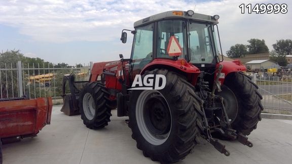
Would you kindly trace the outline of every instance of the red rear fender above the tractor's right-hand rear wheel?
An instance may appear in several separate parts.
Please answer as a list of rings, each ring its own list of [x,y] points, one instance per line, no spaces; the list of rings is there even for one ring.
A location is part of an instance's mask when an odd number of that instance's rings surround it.
[[[220,62],[216,65],[216,68],[218,68],[218,66],[222,64],[223,65],[223,69],[221,71],[221,75],[219,78],[219,81],[221,84],[224,84],[224,80],[225,78],[228,76],[228,74],[232,73],[232,72],[244,72],[246,71],[246,67],[241,64],[240,60],[234,60],[234,61],[223,61]]]

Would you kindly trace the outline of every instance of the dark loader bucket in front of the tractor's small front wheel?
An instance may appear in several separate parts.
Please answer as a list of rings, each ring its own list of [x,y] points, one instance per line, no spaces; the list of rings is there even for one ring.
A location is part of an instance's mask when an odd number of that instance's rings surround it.
[[[69,89],[70,93],[66,94],[66,83],[68,81],[67,90]],[[74,74],[64,75],[63,77],[63,106],[61,112],[66,115],[78,115],[79,112],[79,93],[83,89],[83,86],[88,83],[88,81],[75,81]]]

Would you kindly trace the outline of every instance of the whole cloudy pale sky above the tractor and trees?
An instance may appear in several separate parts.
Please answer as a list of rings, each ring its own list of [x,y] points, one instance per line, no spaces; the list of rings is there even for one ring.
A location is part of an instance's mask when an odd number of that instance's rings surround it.
[[[241,4],[286,4],[287,13],[241,14]],[[219,15],[224,54],[250,38],[265,39],[271,51],[276,40],[292,39],[291,6],[288,0],[0,0],[0,51],[20,50],[27,57],[69,65],[119,60],[119,54],[129,58],[132,34],[122,44],[122,29],[169,10]]]

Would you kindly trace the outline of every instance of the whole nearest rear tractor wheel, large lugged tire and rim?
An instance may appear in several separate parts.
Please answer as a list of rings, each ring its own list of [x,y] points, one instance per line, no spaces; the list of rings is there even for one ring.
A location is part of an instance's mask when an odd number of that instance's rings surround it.
[[[202,101],[182,77],[165,69],[145,71],[163,74],[162,90],[132,90],[129,127],[137,148],[152,160],[170,163],[185,158],[200,137]]]

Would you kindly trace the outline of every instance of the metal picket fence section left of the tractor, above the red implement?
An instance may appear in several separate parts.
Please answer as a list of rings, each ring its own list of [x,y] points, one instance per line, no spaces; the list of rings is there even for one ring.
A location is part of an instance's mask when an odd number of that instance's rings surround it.
[[[84,81],[89,79],[90,68],[89,64],[77,68],[55,68],[49,63],[5,63],[0,65],[0,98],[24,95],[29,98],[60,97],[64,74],[73,72],[77,81]]]

